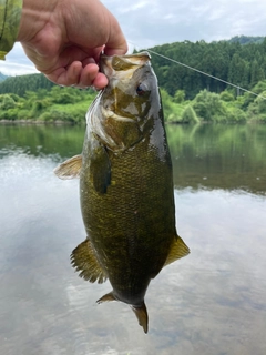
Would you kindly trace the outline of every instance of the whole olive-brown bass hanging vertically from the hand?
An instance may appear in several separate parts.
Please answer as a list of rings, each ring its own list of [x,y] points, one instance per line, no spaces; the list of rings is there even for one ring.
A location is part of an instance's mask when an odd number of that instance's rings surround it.
[[[80,276],[113,290],[98,303],[121,301],[147,333],[144,296],[167,264],[190,253],[177,235],[172,162],[157,79],[147,52],[102,55],[109,78],[86,113],[81,155],[55,169],[80,176],[86,240],[71,254]]]

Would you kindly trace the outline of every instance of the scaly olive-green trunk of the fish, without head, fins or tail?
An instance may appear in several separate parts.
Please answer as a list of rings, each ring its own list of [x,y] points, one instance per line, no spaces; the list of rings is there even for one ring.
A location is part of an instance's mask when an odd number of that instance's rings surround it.
[[[156,124],[155,130],[161,131],[162,123]],[[95,140],[92,132],[89,134],[90,142]],[[88,235],[114,295],[133,305],[143,302],[150,280],[163,267],[176,237],[165,136],[161,151],[151,141],[147,135],[116,154],[103,149],[100,155],[106,154],[111,164],[111,181],[104,193],[94,186],[92,165],[98,161],[92,156],[91,143],[85,142],[82,155],[81,209]],[[99,161],[101,164],[101,158]]]

